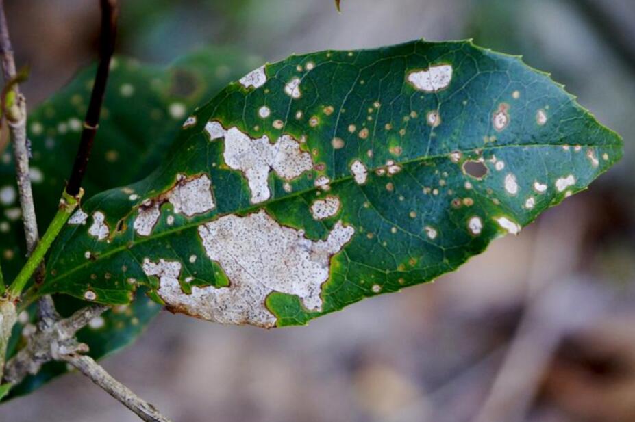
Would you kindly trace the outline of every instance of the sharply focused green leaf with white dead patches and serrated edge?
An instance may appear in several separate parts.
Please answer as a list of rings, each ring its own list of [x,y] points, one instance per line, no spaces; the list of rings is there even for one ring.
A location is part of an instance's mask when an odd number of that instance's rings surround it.
[[[86,202],[40,293],[127,304],[142,285],[204,319],[304,324],[456,269],[621,148],[548,75],[471,42],[292,56]]]

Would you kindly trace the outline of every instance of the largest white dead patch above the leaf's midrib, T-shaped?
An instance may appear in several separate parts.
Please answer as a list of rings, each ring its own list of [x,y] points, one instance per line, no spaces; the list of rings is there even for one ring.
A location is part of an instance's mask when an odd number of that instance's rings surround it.
[[[275,144],[271,144],[266,135],[252,139],[237,127],[223,129],[219,122],[209,122],[206,129],[212,140],[225,138],[225,163],[229,168],[245,174],[252,204],[270,198],[267,179],[271,170],[286,181],[291,181],[313,168],[311,155],[300,150],[299,142],[290,135],[282,135]]]

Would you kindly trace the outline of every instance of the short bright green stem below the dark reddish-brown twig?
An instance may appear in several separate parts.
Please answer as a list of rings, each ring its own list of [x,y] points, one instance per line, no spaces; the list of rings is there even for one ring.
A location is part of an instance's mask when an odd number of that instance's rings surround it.
[[[38,269],[38,265],[40,265],[42,259],[44,259],[44,256],[49,251],[51,244],[53,243],[55,238],[58,237],[58,234],[60,234],[60,230],[62,230],[62,227],[64,227],[66,221],[69,220],[69,217],[71,217],[73,211],[75,211],[75,208],[77,207],[77,203],[79,201],[79,198],[81,198],[82,193],[83,192],[80,191],[79,195],[77,195],[77,198],[66,194],[66,191],[64,191],[64,194],[62,194],[62,199],[60,200],[60,208],[55,214],[55,217],[53,217],[53,221],[51,222],[51,224],[49,224],[46,233],[38,242],[38,246],[36,246],[31,256],[29,256],[27,263],[24,265],[24,267],[22,267],[18,276],[9,286],[8,295],[12,300],[16,300],[20,297],[23,289],[27,285],[27,282],[29,282],[31,276],[33,276],[33,273],[36,271],[36,269]]]

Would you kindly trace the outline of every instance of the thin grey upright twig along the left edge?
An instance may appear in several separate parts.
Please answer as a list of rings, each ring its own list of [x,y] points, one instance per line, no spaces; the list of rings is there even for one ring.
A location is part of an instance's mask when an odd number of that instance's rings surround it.
[[[5,83],[16,76],[16,64],[13,57],[13,47],[9,38],[9,28],[4,14],[4,1],[0,0],[0,62]],[[29,178],[29,148],[27,146],[27,107],[20,87],[15,84],[16,94],[13,111],[7,114],[9,132],[13,144],[13,154],[16,166],[16,179],[20,194],[20,206],[24,221],[25,238],[29,254],[38,243],[38,222],[36,221],[33,205],[33,192]]]

